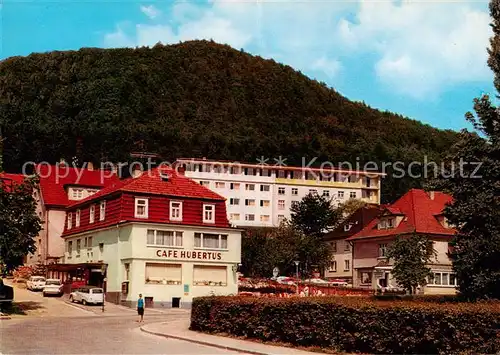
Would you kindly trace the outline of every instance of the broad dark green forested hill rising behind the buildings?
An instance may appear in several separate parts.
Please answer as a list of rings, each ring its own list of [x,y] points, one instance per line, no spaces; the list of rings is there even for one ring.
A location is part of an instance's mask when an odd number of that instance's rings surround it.
[[[0,120],[11,171],[75,155],[129,160],[137,149],[167,160],[412,161],[439,157],[456,140],[454,132],[351,102],[291,67],[207,41],[9,58],[0,62]],[[419,183],[387,181],[386,197]]]

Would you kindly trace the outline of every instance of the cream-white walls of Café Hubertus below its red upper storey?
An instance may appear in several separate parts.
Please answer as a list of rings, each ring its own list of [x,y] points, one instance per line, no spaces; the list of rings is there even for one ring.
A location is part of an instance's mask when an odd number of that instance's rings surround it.
[[[156,239],[158,231],[173,232],[175,238]],[[204,245],[207,234],[219,235],[219,242]],[[240,230],[128,223],[66,237],[65,245],[67,264],[108,265],[106,294],[124,305],[135,307],[142,294],[153,307],[180,301],[180,307],[188,308],[193,297],[238,293]],[[123,283],[128,284],[126,293]]]

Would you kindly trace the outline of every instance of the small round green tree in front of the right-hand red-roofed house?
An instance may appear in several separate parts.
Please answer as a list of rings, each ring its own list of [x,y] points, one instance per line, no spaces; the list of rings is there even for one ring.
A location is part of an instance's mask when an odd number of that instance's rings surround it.
[[[414,294],[418,286],[425,286],[432,275],[427,266],[436,256],[431,240],[420,234],[396,238],[387,250],[387,257],[393,259],[392,274],[398,286]]]

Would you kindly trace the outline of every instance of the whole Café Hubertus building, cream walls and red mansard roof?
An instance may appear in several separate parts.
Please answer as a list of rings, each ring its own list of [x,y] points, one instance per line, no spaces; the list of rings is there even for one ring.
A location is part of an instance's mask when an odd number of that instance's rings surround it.
[[[225,199],[182,173],[135,172],[67,208],[65,264],[97,263],[108,301],[190,307],[238,292],[241,230]],[[99,270],[97,270],[99,271]]]

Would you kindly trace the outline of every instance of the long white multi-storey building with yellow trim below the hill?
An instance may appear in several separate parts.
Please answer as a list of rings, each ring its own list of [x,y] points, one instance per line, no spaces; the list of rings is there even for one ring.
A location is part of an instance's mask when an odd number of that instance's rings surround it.
[[[361,199],[380,203],[382,173],[268,166],[207,159],[178,159],[185,175],[227,201],[229,221],[236,226],[274,227],[290,218],[290,208],[309,193],[341,203]]]

